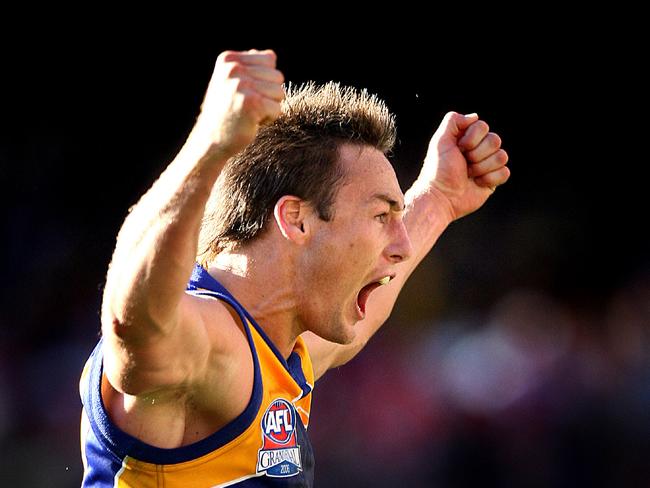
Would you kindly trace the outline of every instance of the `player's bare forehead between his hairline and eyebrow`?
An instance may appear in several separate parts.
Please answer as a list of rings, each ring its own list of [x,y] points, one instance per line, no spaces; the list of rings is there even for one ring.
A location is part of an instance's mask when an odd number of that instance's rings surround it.
[[[345,174],[339,195],[346,200],[368,201],[382,194],[403,200],[395,170],[384,154],[369,146],[343,144],[339,164]]]

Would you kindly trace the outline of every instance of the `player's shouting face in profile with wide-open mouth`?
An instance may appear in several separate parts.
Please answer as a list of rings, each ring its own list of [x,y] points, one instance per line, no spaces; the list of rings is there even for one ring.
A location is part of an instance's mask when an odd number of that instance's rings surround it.
[[[396,274],[411,244],[402,220],[404,196],[386,157],[367,146],[339,150],[345,178],[325,222],[311,215],[301,256],[301,322],[320,337],[348,344],[355,324],[373,311],[368,297]]]

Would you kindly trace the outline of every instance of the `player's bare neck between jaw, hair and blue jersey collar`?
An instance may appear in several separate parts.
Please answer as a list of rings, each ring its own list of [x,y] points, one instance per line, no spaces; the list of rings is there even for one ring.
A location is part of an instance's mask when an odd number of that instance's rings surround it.
[[[273,249],[256,243],[224,251],[208,271],[248,310],[286,359],[302,329],[297,320],[293,266],[286,262],[286,253]]]

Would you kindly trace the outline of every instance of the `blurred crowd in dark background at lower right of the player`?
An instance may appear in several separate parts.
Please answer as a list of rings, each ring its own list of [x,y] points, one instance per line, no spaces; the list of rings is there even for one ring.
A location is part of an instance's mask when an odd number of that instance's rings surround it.
[[[400,328],[317,384],[318,486],[650,486],[650,280]]]

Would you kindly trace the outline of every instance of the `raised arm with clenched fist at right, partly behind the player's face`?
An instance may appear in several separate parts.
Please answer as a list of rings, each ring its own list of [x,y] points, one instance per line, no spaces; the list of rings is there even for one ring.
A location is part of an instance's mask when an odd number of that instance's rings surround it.
[[[506,182],[510,170],[500,137],[476,114],[449,112],[436,130],[420,175],[406,192],[404,223],[413,254],[397,265],[397,276],[372,293],[366,318],[355,328],[352,344],[341,346],[312,333],[305,340],[314,360],[315,374],[346,363],[388,319],[404,283],[431,250],[447,226],[480,208]]]

